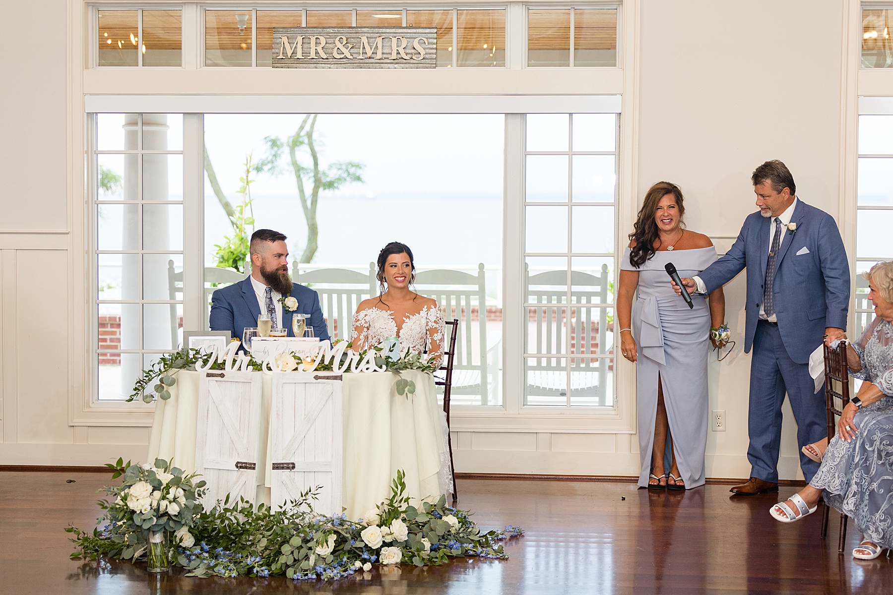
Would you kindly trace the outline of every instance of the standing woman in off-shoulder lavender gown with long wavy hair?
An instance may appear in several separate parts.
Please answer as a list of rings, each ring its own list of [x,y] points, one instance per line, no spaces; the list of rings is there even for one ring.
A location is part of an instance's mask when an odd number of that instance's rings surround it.
[[[672,290],[664,265],[693,277],[716,260],[710,238],[682,227],[679,186],[658,182],[638,211],[623,254],[617,292],[621,352],[636,362],[638,484],[683,490],[705,482],[707,351],[711,323],[722,326],[722,287],[692,296],[694,309]],[[633,295],[638,300],[633,308]],[[714,341],[714,347],[724,345]]]

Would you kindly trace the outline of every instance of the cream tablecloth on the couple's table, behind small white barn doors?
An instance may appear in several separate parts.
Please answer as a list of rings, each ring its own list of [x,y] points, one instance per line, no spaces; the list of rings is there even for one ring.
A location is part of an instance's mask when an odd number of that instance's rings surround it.
[[[156,401],[147,461],[170,460],[187,472],[196,470],[196,420],[202,373],[180,370],[171,398]],[[262,378],[261,412],[255,470],[255,502],[270,503],[272,461],[270,414],[274,375]],[[306,376],[312,376],[308,374]],[[390,372],[346,373],[342,384],[342,506],[347,518],[362,517],[391,493],[398,469],[405,472],[406,494],[413,499],[447,493],[450,477],[446,422],[434,379],[418,370],[402,376],[415,383],[415,394],[396,393]]]

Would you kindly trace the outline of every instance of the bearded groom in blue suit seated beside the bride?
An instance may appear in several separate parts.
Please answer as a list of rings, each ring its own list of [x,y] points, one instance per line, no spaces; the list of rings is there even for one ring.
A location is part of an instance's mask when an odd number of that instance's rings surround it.
[[[307,317],[307,326],[313,326],[313,335],[321,341],[329,340],[319,295],[309,287],[293,284],[288,277],[285,241],[286,236],[278,231],[255,231],[251,236],[251,275],[213,293],[211,330],[230,331],[241,340],[246,326],[257,326],[257,317],[263,311],[270,315],[272,326],[285,327],[288,336],[294,336],[291,319],[301,312]],[[288,300],[289,296],[297,303]]]

